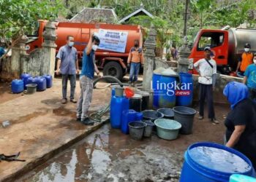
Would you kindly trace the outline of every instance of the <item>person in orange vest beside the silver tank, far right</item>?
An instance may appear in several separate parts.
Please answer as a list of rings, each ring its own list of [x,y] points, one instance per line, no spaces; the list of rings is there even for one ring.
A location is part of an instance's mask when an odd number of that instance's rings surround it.
[[[247,66],[252,64],[253,54],[250,52],[251,45],[246,43],[244,45],[244,52],[241,55],[240,60],[238,60],[238,66],[236,68],[236,74],[239,77],[244,77],[244,72],[246,71]]]

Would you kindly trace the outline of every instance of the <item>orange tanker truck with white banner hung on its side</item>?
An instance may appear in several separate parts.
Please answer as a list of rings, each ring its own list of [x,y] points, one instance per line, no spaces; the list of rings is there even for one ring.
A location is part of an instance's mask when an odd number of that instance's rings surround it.
[[[35,31],[34,35],[28,35],[29,41],[26,46],[27,52],[31,52],[34,49],[42,47],[42,33],[45,30],[47,21],[39,20],[38,23],[38,29]],[[56,23],[56,51],[58,52],[59,48],[66,44],[67,36],[71,35],[74,36],[74,46],[78,50],[78,58],[81,59],[83,57],[83,50],[88,44],[90,33],[99,33],[100,30],[110,33],[108,34],[108,39],[105,42],[111,41],[111,37],[116,38],[116,33],[120,33],[121,36],[125,36],[123,35],[124,33],[127,34],[125,37],[126,40],[121,40],[122,50],[115,50],[115,47],[108,50],[108,46],[107,50],[102,50],[99,45],[99,49],[95,54],[97,66],[103,70],[104,76],[115,76],[118,79],[122,79],[122,77],[127,73],[127,58],[129,56],[129,50],[134,46],[135,39],[140,41],[140,47],[143,43],[143,34],[140,25],[58,22]]]

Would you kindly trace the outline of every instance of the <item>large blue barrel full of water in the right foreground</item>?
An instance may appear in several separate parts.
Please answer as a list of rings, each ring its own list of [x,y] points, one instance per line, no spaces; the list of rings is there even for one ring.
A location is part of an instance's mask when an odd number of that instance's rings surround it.
[[[217,143],[194,143],[184,154],[180,182],[228,182],[234,173],[253,175],[252,162],[244,154]]]

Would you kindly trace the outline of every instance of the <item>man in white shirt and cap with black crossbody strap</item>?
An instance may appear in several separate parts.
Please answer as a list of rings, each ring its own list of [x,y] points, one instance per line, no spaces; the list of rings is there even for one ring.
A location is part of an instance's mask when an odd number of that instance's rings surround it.
[[[219,124],[214,114],[213,89],[216,82],[217,65],[215,60],[211,59],[211,48],[205,47],[205,58],[198,60],[194,67],[199,74],[198,82],[200,84],[199,104],[200,111],[198,119],[203,119],[203,110],[205,99],[208,103],[208,118],[212,124]]]

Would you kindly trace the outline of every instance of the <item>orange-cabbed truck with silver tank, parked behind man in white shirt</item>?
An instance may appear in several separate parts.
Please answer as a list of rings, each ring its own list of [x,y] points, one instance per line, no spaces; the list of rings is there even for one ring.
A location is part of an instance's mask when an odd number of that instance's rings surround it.
[[[228,30],[202,29],[197,33],[192,46],[190,60],[193,63],[204,58],[203,48],[211,47],[219,74],[231,74],[236,71],[238,60],[244,52],[244,44],[251,44],[256,52],[256,29],[229,28]],[[192,68],[192,66],[189,66]],[[195,69],[192,73],[196,74]]]

